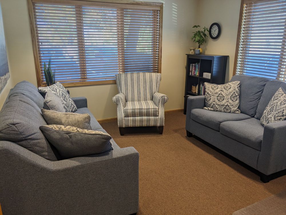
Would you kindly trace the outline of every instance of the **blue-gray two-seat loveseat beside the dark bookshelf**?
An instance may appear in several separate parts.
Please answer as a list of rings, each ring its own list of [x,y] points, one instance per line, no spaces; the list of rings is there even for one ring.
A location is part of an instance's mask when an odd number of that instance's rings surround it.
[[[286,89],[286,83],[242,75],[231,81],[241,82],[241,114],[204,110],[204,96],[188,97],[187,136],[194,134],[253,167],[266,183],[285,174],[286,121],[263,127],[260,118],[275,92],[280,87]]]

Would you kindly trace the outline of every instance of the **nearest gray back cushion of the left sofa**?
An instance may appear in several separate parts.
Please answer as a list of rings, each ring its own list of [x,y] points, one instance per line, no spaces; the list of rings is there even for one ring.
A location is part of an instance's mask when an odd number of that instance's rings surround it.
[[[41,96],[41,95],[40,95]],[[47,125],[41,109],[22,94],[13,94],[0,113],[0,140],[16,144],[50,161],[57,161],[56,155],[39,126]]]

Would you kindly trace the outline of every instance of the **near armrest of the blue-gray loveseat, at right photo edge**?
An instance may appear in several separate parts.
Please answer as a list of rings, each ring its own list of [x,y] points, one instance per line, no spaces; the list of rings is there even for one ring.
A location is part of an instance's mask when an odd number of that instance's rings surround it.
[[[286,169],[286,121],[265,125],[257,169],[265,175]]]

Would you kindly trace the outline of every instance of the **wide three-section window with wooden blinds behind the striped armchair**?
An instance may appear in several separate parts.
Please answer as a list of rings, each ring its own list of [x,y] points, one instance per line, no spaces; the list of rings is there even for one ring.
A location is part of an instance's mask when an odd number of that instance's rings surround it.
[[[45,86],[49,58],[65,86],[115,83],[121,72],[160,73],[162,3],[123,2],[29,0],[38,86]]]

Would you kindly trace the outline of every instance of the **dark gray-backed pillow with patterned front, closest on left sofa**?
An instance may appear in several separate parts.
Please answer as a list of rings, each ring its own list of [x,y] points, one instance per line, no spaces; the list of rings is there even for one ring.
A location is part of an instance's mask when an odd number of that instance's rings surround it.
[[[40,129],[64,159],[113,150],[111,136],[101,131],[62,125],[40,126]]]

